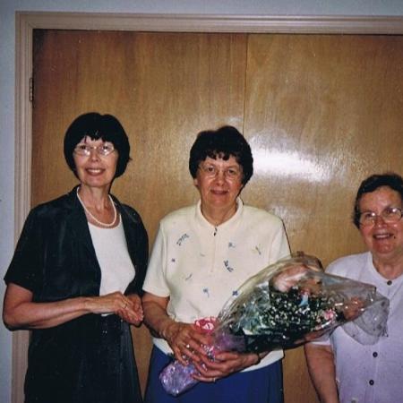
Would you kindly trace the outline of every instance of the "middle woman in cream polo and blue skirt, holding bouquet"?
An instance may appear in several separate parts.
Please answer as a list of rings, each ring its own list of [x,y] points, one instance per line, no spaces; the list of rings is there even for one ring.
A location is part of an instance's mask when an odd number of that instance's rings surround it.
[[[189,169],[201,199],[161,220],[143,285],[154,336],[145,401],[281,402],[281,350],[221,353],[201,370],[201,382],[175,398],[159,382],[172,354],[183,364],[200,362],[208,339],[196,320],[217,316],[244,280],[289,254],[281,220],[239,198],[253,175],[253,156],[235,127],[199,133]]]

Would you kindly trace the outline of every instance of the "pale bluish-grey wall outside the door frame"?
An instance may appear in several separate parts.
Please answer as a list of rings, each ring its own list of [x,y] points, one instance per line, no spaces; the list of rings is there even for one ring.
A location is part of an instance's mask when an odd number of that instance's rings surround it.
[[[239,15],[403,15],[401,0],[1,0],[0,278],[14,247],[15,12],[199,13]],[[4,283],[0,281],[3,299]],[[0,324],[0,401],[11,401],[12,334]]]

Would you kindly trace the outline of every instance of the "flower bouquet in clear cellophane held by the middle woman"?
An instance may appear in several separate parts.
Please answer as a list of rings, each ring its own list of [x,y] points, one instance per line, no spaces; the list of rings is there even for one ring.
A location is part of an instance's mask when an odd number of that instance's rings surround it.
[[[296,347],[321,339],[337,326],[362,344],[373,344],[386,333],[389,300],[376,288],[325,273],[320,261],[296,253],[246,280],[217,318],[196,322],[209,332],[210,359],[219,351],[259,353]],[[167,393],[177,396],[193,387],[197,370],[174,361],[160,373]]]

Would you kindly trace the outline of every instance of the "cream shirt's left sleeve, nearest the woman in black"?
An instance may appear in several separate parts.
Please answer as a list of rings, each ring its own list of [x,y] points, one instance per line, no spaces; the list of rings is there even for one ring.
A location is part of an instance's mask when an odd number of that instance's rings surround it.
[[[149,267],[142,289],[155,296],[169,296],[167,286],[167,241],[163,227],[159,224],[159,231],[152,247]]]

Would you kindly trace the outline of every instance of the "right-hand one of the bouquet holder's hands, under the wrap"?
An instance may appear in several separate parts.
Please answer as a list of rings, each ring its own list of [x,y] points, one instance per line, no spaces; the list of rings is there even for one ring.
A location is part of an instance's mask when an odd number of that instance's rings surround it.
[[[206,356],[201,356],[201,363],[193,362],[200,375],[193,375],[194,379],[201,382],[216,382],[231,373],[237,373],[251,365],[260,362],[260,356],[255,353],[241,354],[236,352],[219,353],[215,360],[211,361]]]

